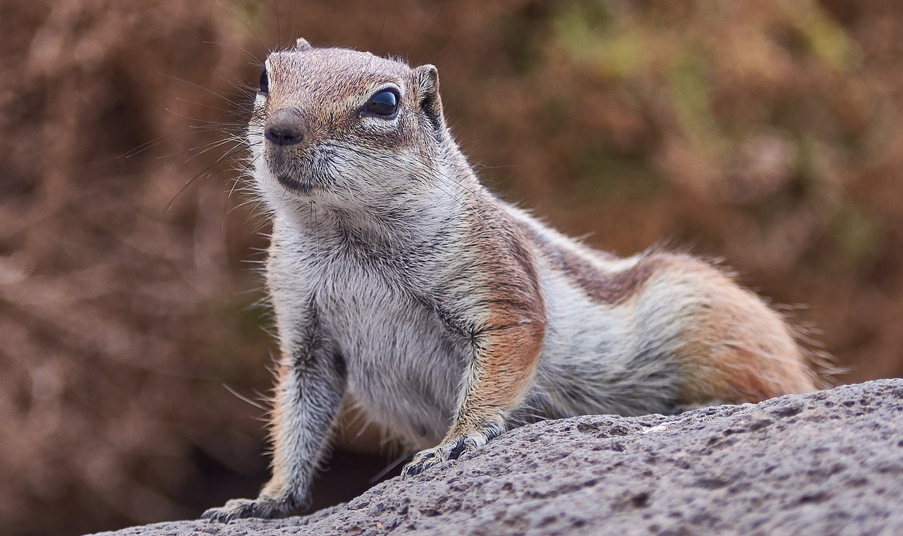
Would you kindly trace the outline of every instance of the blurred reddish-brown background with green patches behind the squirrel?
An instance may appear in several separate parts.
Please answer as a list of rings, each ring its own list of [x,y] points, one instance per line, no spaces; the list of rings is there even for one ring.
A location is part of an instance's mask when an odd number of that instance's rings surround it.
[[[242,397],[271,387],[267,227],[221,142],[295,36],[433,62],[506,199],[618,254],[723,258],[838,382],[903,375],[894,0],[0,0],[0,29],[0,533],[265,482]],[[337,454],[318,505],[391,459]]]

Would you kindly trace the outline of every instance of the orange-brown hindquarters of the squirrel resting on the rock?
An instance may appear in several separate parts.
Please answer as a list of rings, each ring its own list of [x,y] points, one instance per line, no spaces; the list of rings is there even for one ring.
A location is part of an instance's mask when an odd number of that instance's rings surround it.
[[[644,294],[668,303],[670,321],[683,326],[669,343],[682,371],[678,406],[761,402],[817,390],[785,319],[711,265],[675,257]]]

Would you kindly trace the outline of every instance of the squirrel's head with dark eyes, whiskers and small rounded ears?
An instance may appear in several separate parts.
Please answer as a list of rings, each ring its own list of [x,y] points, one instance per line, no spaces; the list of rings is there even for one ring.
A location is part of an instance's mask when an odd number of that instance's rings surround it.
[[[453,146],[433,65],[303,39],[267,57],[247,134],[258,188],[283,197],[415,189]]]

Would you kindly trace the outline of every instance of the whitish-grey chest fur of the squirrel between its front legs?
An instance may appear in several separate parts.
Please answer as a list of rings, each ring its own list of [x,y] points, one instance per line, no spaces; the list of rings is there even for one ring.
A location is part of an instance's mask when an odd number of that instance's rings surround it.
[[[341,236],[276,226],[267,282],[281,338],[305,328],[300,313],[312,306],[367,418],[411,447],[436,444],[460,393],[461,341],[391,270]]]

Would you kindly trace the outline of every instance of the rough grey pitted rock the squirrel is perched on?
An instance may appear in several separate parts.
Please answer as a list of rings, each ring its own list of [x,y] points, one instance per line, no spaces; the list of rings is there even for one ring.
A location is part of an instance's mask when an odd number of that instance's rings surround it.
[[[903,380],[513,430],[305,517],[182,534],[903,534]]]

